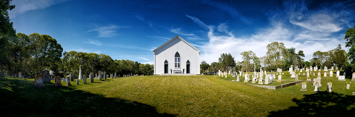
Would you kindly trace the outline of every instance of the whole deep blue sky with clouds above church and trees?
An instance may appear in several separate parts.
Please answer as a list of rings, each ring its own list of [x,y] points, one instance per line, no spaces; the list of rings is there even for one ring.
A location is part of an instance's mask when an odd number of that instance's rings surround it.
[[[230,52],[266,55],[266,46],[328,51],[354,27],[355,1],[213,0],[13,0],[10,21],[18,33],[47,34],[64,51],[94,52],[112,59],[153,64],[155,48],[179,35],[200,49],[201,59],[217,62]]]

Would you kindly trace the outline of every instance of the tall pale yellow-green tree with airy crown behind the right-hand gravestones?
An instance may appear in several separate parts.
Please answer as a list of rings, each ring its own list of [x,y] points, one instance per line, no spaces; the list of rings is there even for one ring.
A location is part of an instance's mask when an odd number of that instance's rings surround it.
[[[284,65],[284,57],[287,53],[284,43],[273,42],[266,46],[266,64],[270,65],[271,70],[280,68]]]

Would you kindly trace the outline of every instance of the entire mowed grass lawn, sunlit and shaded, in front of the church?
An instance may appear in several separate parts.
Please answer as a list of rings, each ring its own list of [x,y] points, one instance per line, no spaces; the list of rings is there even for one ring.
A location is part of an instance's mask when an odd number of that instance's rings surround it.
[[[283,79],[294,79],[283,73]],[[299,80],[305,82],[303,73]],[[0,77],[0,116],[353,117],[355,82],[345,89],[350,79],[323,75],[321,71],[320,92],[313,91],[311,82],[307,91],[300,91],[301,84],[272,90],[231,81],[236,78],[230,75],[125,77],[95,79],[91,84],[87,79],[88,84],[80,80],[79,85],[71,82],[71,87],[65,82],[54,87],[52,80],[44,88],[34,88],[33,79]],[[326,91],[328,82],[333,83],[331,93]]]

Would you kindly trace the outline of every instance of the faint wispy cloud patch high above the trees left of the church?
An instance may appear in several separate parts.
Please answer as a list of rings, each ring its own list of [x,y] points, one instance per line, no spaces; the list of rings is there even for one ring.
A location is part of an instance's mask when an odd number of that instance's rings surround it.
[[[116,34],[116,29],[118,28],[131,28],[129,26],[117,26],[117,25],[111,25],[111,26],[102,26],[102,27],[97,27],[95,29],[89,30],[87,32],[98,32],[99,35],[97,37],[114,37],[118,34]]]

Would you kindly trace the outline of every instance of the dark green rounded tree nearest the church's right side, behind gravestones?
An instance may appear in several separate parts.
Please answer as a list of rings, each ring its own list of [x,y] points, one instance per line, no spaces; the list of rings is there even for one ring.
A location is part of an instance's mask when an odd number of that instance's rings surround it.
[[[230,69],[233,69],[233,67],[235,67],[234,57],[230,55],[230,53],[221,54],[221,56],[218,58],[218,62],[219,68],[225,72],[228,72],[230,71]]]

